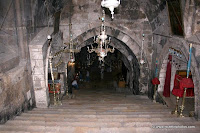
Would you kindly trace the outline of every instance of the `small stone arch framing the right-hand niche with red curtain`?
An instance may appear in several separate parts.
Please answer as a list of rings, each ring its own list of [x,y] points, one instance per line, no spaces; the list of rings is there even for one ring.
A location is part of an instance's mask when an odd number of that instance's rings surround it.
[[[181,50],[181,52],[183,53],[185,60],[188,61],[189,43],[182,38],[178,38],[178,37],[170,38],[168,40],[168,43],[164,46],[163,50],[161,51],[161,53],[163,53],[163,54],[158,59],[159,60],[158,61],[159,62],[159,64],[158,64],[159,75],[160,75],[160,72],[161,72],[162,63],[165,60],[166,55],[168,54],[169,47],[171,47],[171,46],[176,46],[177,48],[179,48]],[[199,112],[200,112],[200,109],[199,109],[200,85],[199,85],[198,79],[200,78],[200,76],[199,76],[199,70],[198,70],[198,67],[197,67],[197,61],[196,61],[193,53],[192,53],[192,58],[191,58],[190,70],[191,70],[192,79],[193,79],[193,82],[194,82],[195,116],[199,117]]]

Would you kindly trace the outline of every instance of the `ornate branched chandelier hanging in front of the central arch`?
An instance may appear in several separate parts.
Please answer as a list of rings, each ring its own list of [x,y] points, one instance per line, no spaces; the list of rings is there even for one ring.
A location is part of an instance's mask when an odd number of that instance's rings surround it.
[[[99,56],[99,60],[100,61],[104,61],[104,57],[107,56],[108,52],[113,53],[115,51],[114,48],[109,48],[108,44],[111,42],[110,41],[110,37],[108,37],[106,35],[106,30],[105,30],[105,11],[103,10],[103,16],[101,18],[102,24],[101,24],[101,28],[100,28],[100,35],[98,35],[97,37],[94,36],[94,43],[97,43],[98,46],[96,48],[94,48],[91,45],[91,49],[89,47],[88,48],[88,52],[92,53],[95,52],[97,53],[97,56]]]

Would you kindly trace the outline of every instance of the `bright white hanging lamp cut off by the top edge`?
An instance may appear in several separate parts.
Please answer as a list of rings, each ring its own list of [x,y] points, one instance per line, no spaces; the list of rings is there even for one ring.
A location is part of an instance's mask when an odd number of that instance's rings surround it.
[[[118,7],[120,4],[120,0],[102,0],[101,1],[101,6],[109,8],[112,19],[114,18],[114,8]]]

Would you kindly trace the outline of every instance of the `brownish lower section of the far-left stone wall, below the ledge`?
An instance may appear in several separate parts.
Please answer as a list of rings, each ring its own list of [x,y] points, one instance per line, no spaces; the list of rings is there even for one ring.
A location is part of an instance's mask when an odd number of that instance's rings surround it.
[[[0,123],[35,107],[31,71],[26,62],[1,73],[0,79]]]

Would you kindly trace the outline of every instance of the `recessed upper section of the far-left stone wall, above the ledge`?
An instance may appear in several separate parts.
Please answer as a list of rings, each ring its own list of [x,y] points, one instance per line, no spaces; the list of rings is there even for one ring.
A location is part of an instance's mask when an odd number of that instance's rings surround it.
[[[19,62],[17,30],[15,29],[15,14],[12,0],[0,2],[3,17],[0,18],[0,72],[15,68]],[[5,8],[6,7],[6,8]]]

